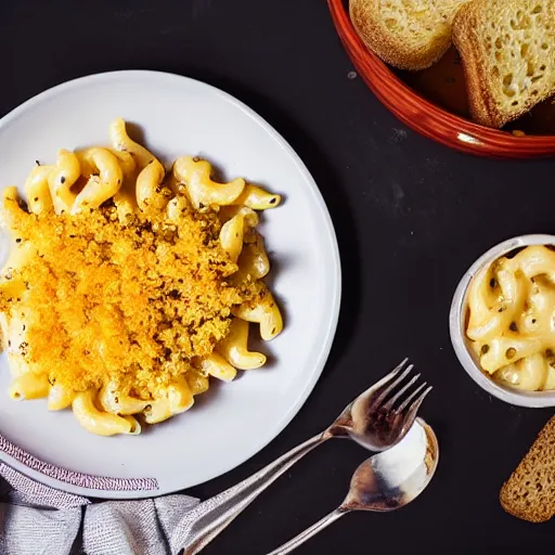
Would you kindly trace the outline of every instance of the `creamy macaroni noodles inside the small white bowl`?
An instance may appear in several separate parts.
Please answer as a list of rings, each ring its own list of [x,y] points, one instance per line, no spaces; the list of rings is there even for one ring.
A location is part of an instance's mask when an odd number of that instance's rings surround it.
[[[555,389],[555,251],[529,246],[482,268],[468,289],[466,335],[504,385]]]

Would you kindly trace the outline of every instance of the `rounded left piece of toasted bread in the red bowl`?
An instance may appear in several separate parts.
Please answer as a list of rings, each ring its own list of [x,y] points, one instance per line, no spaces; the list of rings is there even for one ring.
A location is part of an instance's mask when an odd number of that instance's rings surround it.
[[[468,0],[350,0],[352,24],[366,47],[400,69],[425,69],[451,46],[456,10]]]

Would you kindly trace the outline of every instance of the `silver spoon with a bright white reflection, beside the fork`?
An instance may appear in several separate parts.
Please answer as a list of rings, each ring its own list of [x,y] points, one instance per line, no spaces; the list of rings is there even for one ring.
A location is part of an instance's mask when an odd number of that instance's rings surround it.
[[[384,513],[408,505],[429,483],[439,460],[436,435],[418,418],[406,437],[354,470],[345,501],[317,524],[268,555],[284,555],[351,511]]]

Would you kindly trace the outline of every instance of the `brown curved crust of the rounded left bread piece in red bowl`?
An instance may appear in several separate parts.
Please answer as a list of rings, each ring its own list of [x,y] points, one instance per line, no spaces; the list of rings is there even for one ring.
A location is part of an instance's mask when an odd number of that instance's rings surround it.
[[[463,1],[463,0],[462,0]],[[437,37],[420,49],[408,48],[408,41],[396,37],[379,17],[379,0],[350,0],[351,22],[366,47],[384,62],[411,72],[434,65],[451,46],[450,34]]]

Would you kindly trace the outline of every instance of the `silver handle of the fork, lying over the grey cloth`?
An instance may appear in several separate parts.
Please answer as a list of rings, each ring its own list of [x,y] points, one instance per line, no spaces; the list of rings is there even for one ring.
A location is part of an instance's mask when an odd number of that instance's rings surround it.
[[[268,486],[296,462],[300,461],[309,451],[312,451],[312,449],[331,437],[330,434],[325,433],[314,436],[300,446],[293,448],[249,478],[198,504],[188,514],[188,520],[192,524],[185,533],[184,545],[175,546],[178,547],[176,552],[184,546],[183,555],[198,553],[264,491]]]

